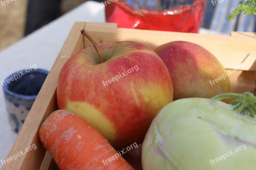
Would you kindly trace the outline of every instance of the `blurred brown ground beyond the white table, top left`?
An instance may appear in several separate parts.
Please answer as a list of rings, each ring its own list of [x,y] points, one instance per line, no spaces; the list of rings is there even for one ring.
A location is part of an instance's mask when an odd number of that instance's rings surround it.
[[[62,14],[74,9],[85,0],[63,0]],[[28,0],[12,1],[0,4],[0,51],[20,40],[24,36]]]

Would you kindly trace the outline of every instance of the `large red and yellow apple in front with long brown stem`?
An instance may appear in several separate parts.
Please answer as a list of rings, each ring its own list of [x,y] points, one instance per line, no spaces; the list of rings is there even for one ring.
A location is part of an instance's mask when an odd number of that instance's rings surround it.
[[[88,47],[64,64],[58,107],[84,118],[115,148],[140,144],[154,117],[172,101],[170,73],[146,45],[111,41],[98,48],[103,63]]]

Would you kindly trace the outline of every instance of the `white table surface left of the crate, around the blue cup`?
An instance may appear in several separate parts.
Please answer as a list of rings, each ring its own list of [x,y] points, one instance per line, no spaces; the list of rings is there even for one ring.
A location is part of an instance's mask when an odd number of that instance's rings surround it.
[[[11,73],[33,64],[50,70],[74,22],[105,22],[104,7],[87,1],[50,24],[28,35],[0,53],[0,82]],[[17,134],[12,132],[0,84],[0,160],[5,160]],[[0,169],[2,164],[0,163]]]

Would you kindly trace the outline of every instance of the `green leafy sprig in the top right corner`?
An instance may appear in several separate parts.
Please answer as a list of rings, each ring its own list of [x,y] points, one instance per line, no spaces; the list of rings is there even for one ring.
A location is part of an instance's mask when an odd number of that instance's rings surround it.
[[[244,12],[244,14],[250,16],[253,14],[256,15],[256,0],[247,0],[244,2],[244,4],[239,4],[238,7],[234,9],[227,18],[228,22],[232,21],[234,17],[241,12]]]

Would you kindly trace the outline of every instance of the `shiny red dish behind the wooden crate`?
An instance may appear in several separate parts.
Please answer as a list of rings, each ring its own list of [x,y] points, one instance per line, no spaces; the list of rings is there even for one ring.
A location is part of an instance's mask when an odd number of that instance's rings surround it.
[[[206,0],[195,0],[191,5],[178,6],[164,11],[135,9],[119,1],[105,7],[106,21],[117,23],[119,28],[198,33],[202,26]]]

